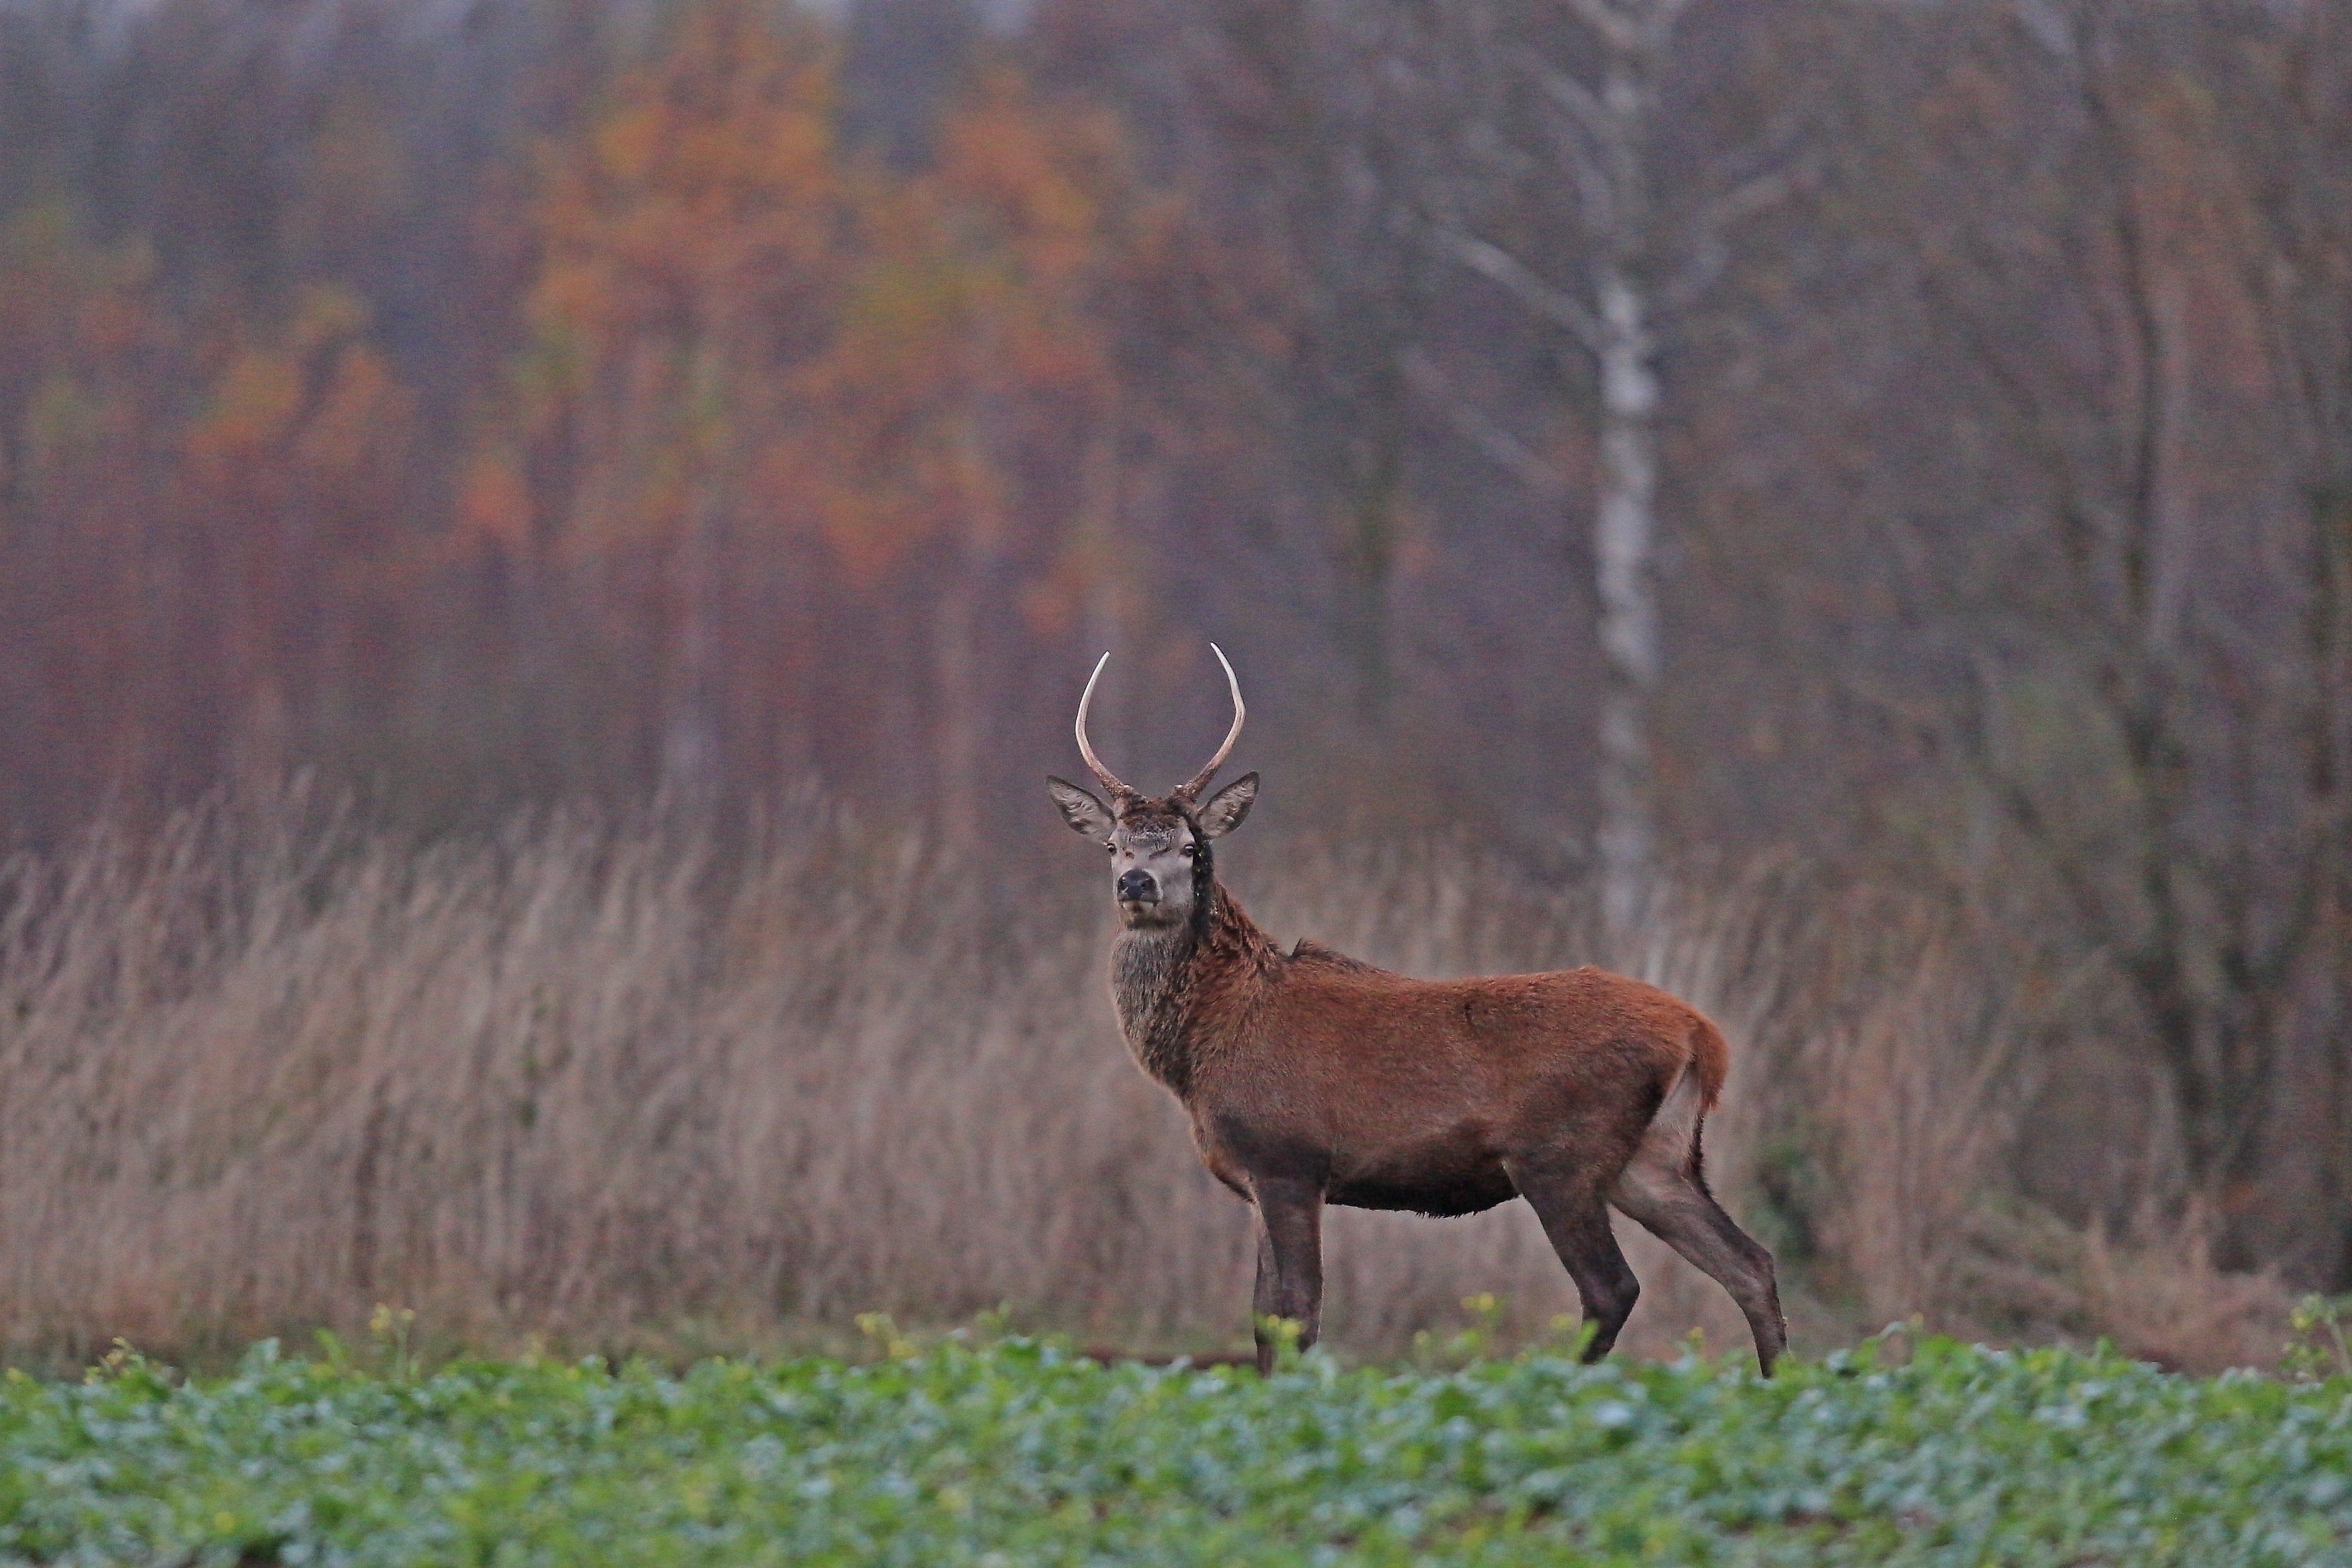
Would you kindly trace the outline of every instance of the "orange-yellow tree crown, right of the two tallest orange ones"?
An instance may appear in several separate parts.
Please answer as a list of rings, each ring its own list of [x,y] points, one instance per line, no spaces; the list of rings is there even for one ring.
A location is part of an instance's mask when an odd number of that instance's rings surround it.
[[[851,571],[934,538],[1051,557],[1073,529],[1068,480],[1120,407],[1134,195],[1115,153],[1101,115],[993,73],[946,115],[934,169],[858,186],[844,308],[802,383],[847,468],[821,512]]]

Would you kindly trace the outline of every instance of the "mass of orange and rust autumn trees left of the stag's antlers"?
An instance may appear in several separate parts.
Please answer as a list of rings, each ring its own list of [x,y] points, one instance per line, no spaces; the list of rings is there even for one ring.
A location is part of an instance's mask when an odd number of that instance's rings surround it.
[[[1117,614],[1171,214],[1103,108],[1004,66],[887,167],[837,61],[670,14],[480,172],[440,364],[332,273],[191,292],[71,202],[7,219],[14,832],[299,764],[428,820],[814,771],[969,799],[990,665]]]

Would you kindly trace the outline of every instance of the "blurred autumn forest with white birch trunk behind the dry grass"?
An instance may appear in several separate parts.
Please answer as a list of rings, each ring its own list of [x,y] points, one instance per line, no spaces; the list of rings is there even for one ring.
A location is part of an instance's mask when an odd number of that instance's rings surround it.
[[[9,844],[1075,879],[1207,637],[1261,835],[1900,889],[2025,1192],[2352,1288],[2352,7],[0,0]]]

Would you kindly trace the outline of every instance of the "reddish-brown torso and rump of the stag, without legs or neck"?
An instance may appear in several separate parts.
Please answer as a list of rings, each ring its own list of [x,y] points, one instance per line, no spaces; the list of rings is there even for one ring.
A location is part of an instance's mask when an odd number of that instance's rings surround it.
[[[1312,943],[1251,978],[1247,1001],[1202,999],[1202,1032],[1232,1048],[1207,1053],[1190,1098],[1209,1171],[1242,1197],[1279,1175],[1348,1208],[1465,1215],[1566,1161],[1635,1204],[1658,1178],[1700,1180],[1724,1037],[1653,985],[1414,980]]]

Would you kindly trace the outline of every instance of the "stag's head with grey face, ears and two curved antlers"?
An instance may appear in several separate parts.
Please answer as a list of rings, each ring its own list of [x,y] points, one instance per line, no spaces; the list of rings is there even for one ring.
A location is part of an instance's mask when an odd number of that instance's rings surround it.
[[[1242,682],[1232,672],[1225,649],[1209,644],[1216,663],[1225,665],[1225,686],[1232,691],[1232,729],[1216,755],[1176,785],[1169,795],[1148,797],[1131,790],[1103,766],[1087,741],[1087,705],[1094,703],[1094,684],[1103,679],[1103,654],[1087,677],[1087,691],[1077,698],[1077,755],[1103,783],[1110,797],[1105,804],[1068,778],[1047,776],[1047,790],[1073,830],[1087,835],[1110,851],[1110,896],[1120,907],[1120,919],[1129,929],[1176,929],[1207,922],[1211,889],[1216,886],[1216,863],[1209,851],[1211,839],[1221,839],[1242,825],[1251,802],[1258,799],[1258,776],[1242,773],[1207,802],[1200,792],[1209,788],[1216,771],[1232,755],[1232,743],[1242,738]]]

